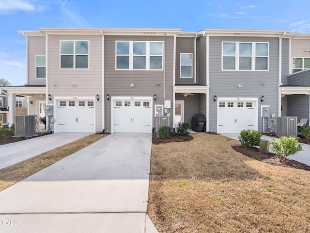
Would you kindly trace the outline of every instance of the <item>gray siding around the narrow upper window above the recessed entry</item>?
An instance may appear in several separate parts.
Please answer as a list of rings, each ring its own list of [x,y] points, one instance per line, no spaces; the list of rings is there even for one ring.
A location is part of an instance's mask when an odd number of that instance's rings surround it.
[[[194,52],[194,37],[176,38],[176,54],[175,54],[175,83],[176,84],[194,84],[194,61],[195,61],[195,52]],[[192,53],[192,78],[180,78],[180,53]]]

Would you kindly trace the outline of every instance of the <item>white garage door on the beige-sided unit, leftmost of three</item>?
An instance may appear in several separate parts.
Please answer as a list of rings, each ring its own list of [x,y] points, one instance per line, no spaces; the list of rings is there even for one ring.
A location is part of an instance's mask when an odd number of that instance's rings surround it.
[[[58,133],[94,133],[93,100],[58,100]]]

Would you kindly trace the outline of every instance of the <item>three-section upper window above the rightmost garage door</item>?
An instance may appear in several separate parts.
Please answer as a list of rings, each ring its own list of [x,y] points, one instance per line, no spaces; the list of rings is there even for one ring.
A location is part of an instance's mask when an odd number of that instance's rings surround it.
[[[222,70],[268,70],[266,42],[223,42]]]

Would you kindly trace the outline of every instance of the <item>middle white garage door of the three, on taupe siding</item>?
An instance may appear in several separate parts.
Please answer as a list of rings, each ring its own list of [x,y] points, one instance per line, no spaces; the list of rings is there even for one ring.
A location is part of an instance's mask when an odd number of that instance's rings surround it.
[[[152,133],[150,100],[113,100],[113,133]]]

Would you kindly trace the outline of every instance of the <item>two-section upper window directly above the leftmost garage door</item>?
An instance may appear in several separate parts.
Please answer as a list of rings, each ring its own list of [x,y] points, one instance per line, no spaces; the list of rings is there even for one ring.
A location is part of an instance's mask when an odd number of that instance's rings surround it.
[[[89,41],[61,40],[60,57],[62,69],[88,69]]]

